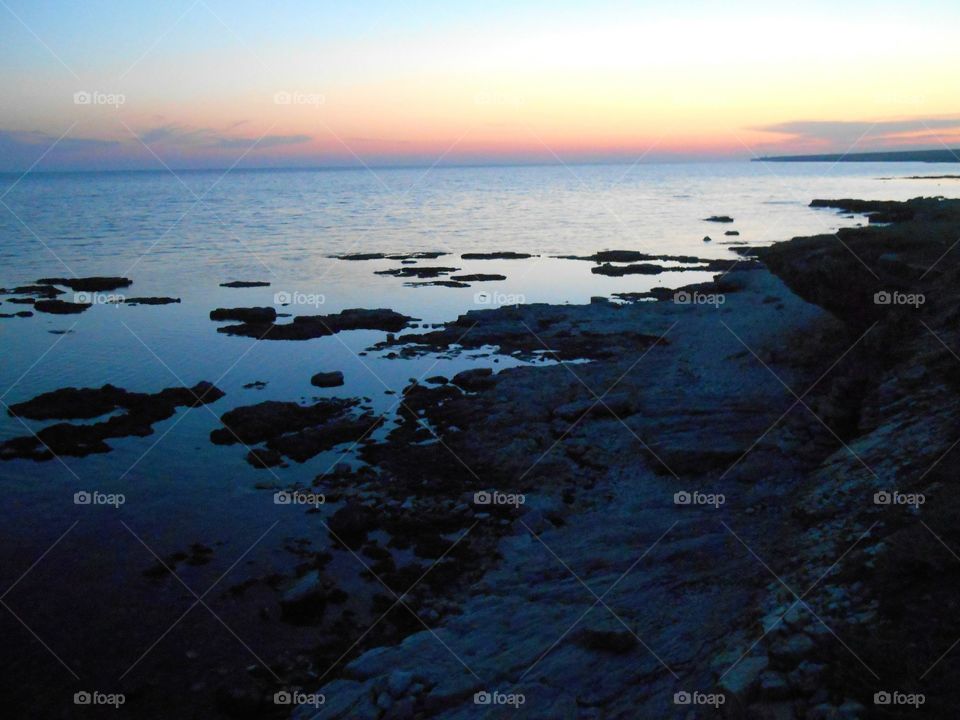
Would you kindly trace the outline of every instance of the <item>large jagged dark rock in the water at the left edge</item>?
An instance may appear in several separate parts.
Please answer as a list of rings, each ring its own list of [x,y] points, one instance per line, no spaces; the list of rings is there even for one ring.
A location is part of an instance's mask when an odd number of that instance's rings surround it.
[[[158,393],[137,393],[104,385],[100,388],[63,388],[10,406],[9,414],[28,420],[88,420],[110,414],[92,424],[57,423],[36,434],[0,444],[0,459],[51,460],[57,455],[84,457],[110,451],[110,438],[153,433],[153,425],[172,417],[179,407],[216,402],[223,391],[208,382],[192,388],[175,387]],[[122,411],[119,414],[117,411]]]

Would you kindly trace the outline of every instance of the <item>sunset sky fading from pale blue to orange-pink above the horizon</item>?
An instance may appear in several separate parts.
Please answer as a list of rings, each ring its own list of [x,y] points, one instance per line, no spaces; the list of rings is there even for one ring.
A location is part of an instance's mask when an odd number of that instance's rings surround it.
[[[960,147],[960,3],[0,0],[0,171]]]

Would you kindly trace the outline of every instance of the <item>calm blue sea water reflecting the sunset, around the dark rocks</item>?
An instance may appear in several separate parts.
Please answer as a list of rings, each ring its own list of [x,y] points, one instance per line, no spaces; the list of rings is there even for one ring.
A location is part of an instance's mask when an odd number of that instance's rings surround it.
[[[179,305],[96,306],[76,316],[0,320],[3,402],[107,382],[156,391],[210,380],[227,393],[212,408],[181,411],[157,424],[149,437],[109,441],[114,450],[108,454],[0,464],[0,585],[10,586],[69,530],[5,601],[69,666],[109,688],[191,600],[176,583],[144,586],[141,573],[154,562],[150,550],[169,555],[193,542],[214,547],[210,565],[182,568],[187,583],[202,592],[227,570],[235,583],[291,568],[296,557],[287,549],[289,538],[310,535],[315,546],[325,542],[302,509],[276,506],[270,493],[255,489],[273,478],[250,467],[244,451],[209,442],[218,415],[267,399],[323,395],[367,397],[375,411],[389,412],[396,399],[386,390],[399,392],[409,378],[518,362],[360,356],[383,339],[383,333],[367,331],[255,344],[218,334],[207,317],[212,308],[272,305],[275,293],[302,293],[323,302],[291,306],[294,314],[388,307],[440,322],[478,307],[478,290],[521,295],[527,302],[585,302],[593,295],[686,284],[707,276],[608,278],[591,274],[589,263],[550,256],[635,249],[729,257],[724,241],[766,244],[863,221],[809,208],[815,197],[960,193],[958,181],[885,179],[924,174],[941,171],[919,164],[717,163],[0,176],[6,205],[0,206],[0,285],[43,276],[125,275],[134,280],[123,291],[128,295],[182,298]],[[703,222],[713,214],[736,222]],[[731,228],[738,238],[723,235]],[[703,242],[708,234],[714,239],[709,244]],[[455,253],[422,264],[501,273],[507,280],[469,289],[409,288],[402,279],[373,274],[395,262],[329,257],[417,250]],[[494,250],[541,257],[459,258],[462,252]],[[219,287],[233,279],[271,286]],[[9,312],[23,306],[5,307]],[[51,333],[64,330],[69,332]],[[313,388],[310,377],[321,370],[342,370],[345,386]],[[254,380],[266,388],[243,389]],[[0,418],[3,439],[24,433],[19,420]],[[325,453],[276,472],[284,483],[309,483],[340,458],[339,452]],[[122,492],[126,504],[118,510],[76,506],[77,490]],[[242,609],[234,616],[230,608],[220,612],[243,625],[245,641],[256,647],[295,645],[300,637],[296,630],[290,637],[275,630],[258,637]],[[209,626],[209,617],[202,620]],[[2,622],[4,636],[15,638],[22,650],[9,661],[8,678],[24,687],[34,677],[72,682],[24,626],[9,615]],[[105,633],[114,647],[109,655],[92,649]],[[219,639],[222,646],[207,645],[211,661],[253,662],[229,635]],[[173,647],[151,654],[143,671],[151,662],[175,662],[183,648]]]

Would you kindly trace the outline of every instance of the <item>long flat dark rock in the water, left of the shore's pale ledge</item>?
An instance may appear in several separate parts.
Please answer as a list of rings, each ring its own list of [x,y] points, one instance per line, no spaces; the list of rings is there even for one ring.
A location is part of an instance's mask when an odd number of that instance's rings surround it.
[[[258,340],[310,340],[344,330],[383,330],[396,332],[414,318],[387,309],[354,308],[332,315],[298,315],[289,323],[269,321],[243,322],[217,328],[217,332]]]

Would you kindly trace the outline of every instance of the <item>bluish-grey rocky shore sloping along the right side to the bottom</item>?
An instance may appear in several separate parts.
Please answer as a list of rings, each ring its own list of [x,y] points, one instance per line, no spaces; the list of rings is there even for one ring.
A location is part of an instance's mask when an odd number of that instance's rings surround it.
[[[439,439],[401,464],[525,503],[476,521],[505,534],[455,612],[310,688],[323,717],[502,712],[478,692],[522,694],[524,717],[687,717],[677,692],[723,693],[730,717],[870,717],[874,693],[898,691],[926,693],[928,716],[944,717],[957,661],[934,663],[960,634],[936,581],[960,571],[935,547],[960,547],[947,457],[957,261],[944,253],[960,210],[856,208],[891,209],[876,219],[892,226],[760,250],[772,272],[690,291],[722,303],[521,306],[454,323],[485,339],[529,331],[560,352],[588,340],[578,352],[593,361],[512,369],[467,396],[416,393]],[[926,301],[875,301],[883,292]],[[677,492],[714,502],[677,505]]]

